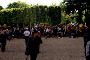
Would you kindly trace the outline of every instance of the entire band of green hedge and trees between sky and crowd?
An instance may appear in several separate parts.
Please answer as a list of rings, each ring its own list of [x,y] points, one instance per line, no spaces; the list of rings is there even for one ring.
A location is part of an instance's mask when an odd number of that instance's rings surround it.
[[[67,0],[67,2],[62,2],[60,6],[48,7],[42,5],[32,6],[20,1],[13,2],[6,9],[1,6],[0,24],[32,25],[34,23],[48,23],[57,25],[67,21],[86,22],[89,21],[89,5],[86,7],[85,1],[82,3],[79,5],[77,0]]]

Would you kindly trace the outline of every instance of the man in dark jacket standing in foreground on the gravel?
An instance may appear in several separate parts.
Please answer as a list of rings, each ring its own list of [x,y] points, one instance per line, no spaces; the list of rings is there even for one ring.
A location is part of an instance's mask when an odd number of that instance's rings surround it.
[[[31,60],[36,60],[41,43],[42,43],[41,37],[38,35],[38,32],[35,31],[33,37],[30,37],[28,40],[25,52],[27,56],[30,55]]]

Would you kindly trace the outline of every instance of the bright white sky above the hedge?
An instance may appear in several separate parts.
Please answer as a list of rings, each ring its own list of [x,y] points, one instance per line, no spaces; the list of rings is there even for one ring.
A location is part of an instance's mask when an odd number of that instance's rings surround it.
[[[16,2],[16,1],[22,1],[26,2],[27,4],[32,4],[32,5],[59,5],[60,2],[63,0],[0,0],[0,5],[3,6],[4,8],[7,7],[9,3]]]

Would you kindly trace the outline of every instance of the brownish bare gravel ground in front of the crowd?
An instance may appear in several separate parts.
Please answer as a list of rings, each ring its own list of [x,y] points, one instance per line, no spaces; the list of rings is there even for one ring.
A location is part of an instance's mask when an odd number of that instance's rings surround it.
[[[85,60],[83,38],[42,38],[37,60]],[[7,41],[6,52],[0,51],[0,60],[25,60],[24,39]]]

